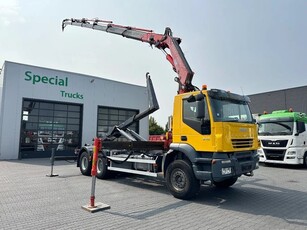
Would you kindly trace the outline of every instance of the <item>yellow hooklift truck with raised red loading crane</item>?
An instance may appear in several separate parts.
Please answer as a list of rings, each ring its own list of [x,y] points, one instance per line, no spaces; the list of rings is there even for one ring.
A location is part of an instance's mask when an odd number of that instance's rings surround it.
[[[85,18],[63,20],[62,29],[67,25],[149,43],[165,53],[178,75],[166,143],[147,141],[129,129],[131,124],[159,109],[147,74],[149,108],[100,137],[98,178],[106,179],[113,171],[163,178],[174,197],[190,199],[204,182],[227,188],[238,177],[253,175],[259,167],[259,156],[257,126],[249,109],[249,98],[220,89],[208,90],[205,85],[201,89],[194,86],[194,73],[180,48],[181,39],[174,37],[170,28],[164,34],[156,34],[152,30]],[[124,141],[118,141],[119,137]],[[90,175],[92,156],[92,145],[78,151],[77,166],[84,175]]]

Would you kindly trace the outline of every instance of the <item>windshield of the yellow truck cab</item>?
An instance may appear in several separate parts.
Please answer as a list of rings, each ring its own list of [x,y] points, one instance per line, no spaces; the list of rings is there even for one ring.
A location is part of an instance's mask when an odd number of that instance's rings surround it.
[[[246,101],[210,99],[214,121],[224,122],[253,122],[253,118]]]

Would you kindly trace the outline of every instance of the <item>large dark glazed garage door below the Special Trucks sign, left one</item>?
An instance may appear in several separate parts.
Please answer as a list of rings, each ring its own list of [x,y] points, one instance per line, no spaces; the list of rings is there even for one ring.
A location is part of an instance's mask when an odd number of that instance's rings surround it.
[[[21,158],[74,155],[81,145],[82,105],[24,99],[20,134]]]

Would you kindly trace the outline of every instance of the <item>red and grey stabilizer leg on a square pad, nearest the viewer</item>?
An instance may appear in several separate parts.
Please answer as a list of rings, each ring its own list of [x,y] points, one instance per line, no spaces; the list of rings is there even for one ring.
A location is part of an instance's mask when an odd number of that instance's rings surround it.
[[[110,205],[103,203],[95,204],[95,187],[96,187],[96,175],[97,175],[97,160],[98,160],[98,152],[101,149],[101,139],[95,138],[94,146],[93,146],[93,157],[92,157],[92,188],[91,188],[91,197],[90,197],[90,205],[82,206],[83,209],[89,212],[97,212],[104,209],[109,209]]]

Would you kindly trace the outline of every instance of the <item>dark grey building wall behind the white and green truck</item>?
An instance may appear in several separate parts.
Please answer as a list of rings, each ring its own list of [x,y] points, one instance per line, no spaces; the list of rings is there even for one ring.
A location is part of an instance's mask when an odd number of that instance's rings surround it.
[[[253,114],[271,113],[274,110],[288,110],[307,114],[307,86],[270,91],[249,95]]]

